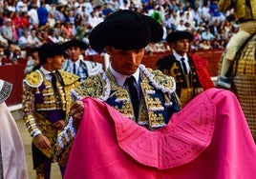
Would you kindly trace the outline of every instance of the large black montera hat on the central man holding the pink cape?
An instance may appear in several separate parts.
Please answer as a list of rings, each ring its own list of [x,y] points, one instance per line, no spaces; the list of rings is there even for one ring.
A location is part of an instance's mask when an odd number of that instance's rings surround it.
[[[91,47],[102,51],[107,46],[137,50],[159,42],[163,30],[158,21],[133,10],[117,10],[98,24],[89,35]]]

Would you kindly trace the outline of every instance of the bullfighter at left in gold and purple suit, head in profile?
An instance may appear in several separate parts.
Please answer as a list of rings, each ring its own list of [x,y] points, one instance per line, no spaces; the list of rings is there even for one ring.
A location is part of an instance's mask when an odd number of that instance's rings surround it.
[[[62,45],[44,44],[39,50],[41,68],[28,74],[23,83],[23,120],[32,136],[36,178],[50,178],[52,147],[71,106],[70,90],[78,85],[78,76],[61,70],[63,54]]]

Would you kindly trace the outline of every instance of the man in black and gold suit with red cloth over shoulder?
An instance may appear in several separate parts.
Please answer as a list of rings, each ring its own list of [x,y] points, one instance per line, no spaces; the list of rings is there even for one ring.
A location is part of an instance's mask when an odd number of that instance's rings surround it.
[[[157,62],[158,70],[176,79],[176,91],[182,107],[203,90],[214,87],[206,70],[207,61],[188,52],[192,40],[193,36],[188,31],[176,30],[169,33],[166,41],[173,53]]]

